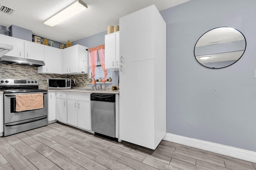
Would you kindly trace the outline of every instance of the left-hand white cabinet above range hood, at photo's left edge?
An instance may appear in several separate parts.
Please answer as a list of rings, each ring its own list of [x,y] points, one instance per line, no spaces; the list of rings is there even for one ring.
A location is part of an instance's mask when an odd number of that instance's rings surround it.
[[[24,41],[0,34],[0,42],[13,45],[13,49],[5,55],[24,58]]]

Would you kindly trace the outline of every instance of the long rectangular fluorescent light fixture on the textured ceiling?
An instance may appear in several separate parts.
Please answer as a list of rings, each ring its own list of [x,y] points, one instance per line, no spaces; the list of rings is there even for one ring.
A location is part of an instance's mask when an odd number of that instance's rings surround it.
[[[48,20],[44,22],[44,24],[48,26],[55,26],[64,20],[67,20],[68,18],[78,14],[79,12],[85,10],[87,7],[86,3],[82,2],[82,0],[78,0],[71,4],[70,6],[66,7],[64,10],[58,12]]]

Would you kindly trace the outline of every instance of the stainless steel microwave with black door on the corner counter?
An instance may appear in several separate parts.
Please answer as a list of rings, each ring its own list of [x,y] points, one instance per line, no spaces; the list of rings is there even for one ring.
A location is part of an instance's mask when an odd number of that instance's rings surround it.
[[[48,79],[48,89],[71,89],[71,79]]]

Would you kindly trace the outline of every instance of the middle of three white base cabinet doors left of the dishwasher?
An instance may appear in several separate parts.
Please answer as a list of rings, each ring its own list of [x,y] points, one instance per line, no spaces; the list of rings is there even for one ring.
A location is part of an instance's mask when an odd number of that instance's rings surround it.
[[[77,101],[68,100],[68,115],[67,115],[67,123],[70,125],[77,126]]]

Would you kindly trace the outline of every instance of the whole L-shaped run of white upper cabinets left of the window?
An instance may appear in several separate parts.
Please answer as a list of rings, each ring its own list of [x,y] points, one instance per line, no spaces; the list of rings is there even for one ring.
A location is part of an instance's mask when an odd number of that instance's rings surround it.
[[[38,73],[68,75],[88,73],[88,48],[85,46],[73,45],[58,49],[2,34],[0,34],[0,43],[13,45],[13,50],[6,53],[7,56],[44,61],[45,65],[38,67]]]

